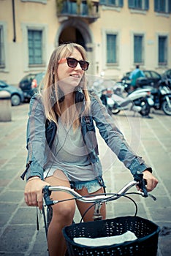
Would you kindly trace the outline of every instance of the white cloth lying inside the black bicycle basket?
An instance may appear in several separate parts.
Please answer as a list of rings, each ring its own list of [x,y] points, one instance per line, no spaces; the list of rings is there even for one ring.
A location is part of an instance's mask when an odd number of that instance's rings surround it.
[[[126,241],[134,241],[137,239],[137,236],[134,235],[131,231],[127,231],[119,236],[105,236],[100,238],[86,238],[86,237],[77,237],[73,241],[77,244],[82,244],[86,246],[105,246],[112,244],[121,244]]]

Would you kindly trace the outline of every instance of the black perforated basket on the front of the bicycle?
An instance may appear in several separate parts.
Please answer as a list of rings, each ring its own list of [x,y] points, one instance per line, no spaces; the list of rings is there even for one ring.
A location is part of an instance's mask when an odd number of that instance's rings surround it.
[[[110,246],[83,246],[76,244],[74,238],[99,238],[119,236],[126,231],[137,236],[134,241],[126,241]],[[69,256],[117,256],[117,255],[151,255],[156,256],[160,228],[148,219],[141,217],[118,217],[95,222],[83,222],[64,227],[63,234]]]

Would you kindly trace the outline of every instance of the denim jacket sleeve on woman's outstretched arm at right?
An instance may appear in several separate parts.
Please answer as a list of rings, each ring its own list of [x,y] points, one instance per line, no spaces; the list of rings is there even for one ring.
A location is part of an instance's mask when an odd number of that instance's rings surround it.
[[[131,171],[134,175],[137,170],[140,172],[149,170],[152,172],[142,157],[132,151],[132,148],[126,142],[123,134],[115,126],[113,118],[107,113],[106,108],[102,105],[101,100],[96,94],[92,93],[91,114],[96,122],[99,133],[107,143],[107,146],[117,155],[118,159]]]

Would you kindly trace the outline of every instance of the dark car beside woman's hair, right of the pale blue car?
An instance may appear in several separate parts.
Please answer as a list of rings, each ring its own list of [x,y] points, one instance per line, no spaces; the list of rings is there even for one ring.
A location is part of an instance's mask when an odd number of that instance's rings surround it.
[[[31,83],[35,77],[35,73],[31,73],[26,75],[24,78],[20,80],[19,87],[23,91],[25,102],[29,102],[32,96]]]

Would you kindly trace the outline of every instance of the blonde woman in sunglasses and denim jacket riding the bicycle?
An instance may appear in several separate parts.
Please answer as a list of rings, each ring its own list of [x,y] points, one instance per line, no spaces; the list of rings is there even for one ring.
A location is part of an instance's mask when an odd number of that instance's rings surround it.
[[[86,51],[76,43],[58,46],[53,51],[45,75],[42,94],[30,102],[27,127],[28,164],[25,201],[28,206],[42,208],[42,188],[45,185],[72,187],[81,195],[104,192],[102,165],[98,157],[95,128],[118,159],[132,172],[144,173],[148,191],[158,181],[144,160],[138,157],[115,127],[93,91],[88,91]],[[55,137],[49,139],[47,127],[55,124]],[[52,139],[52,140],[51,140]],[[47,141],[48,140],[48,141]],[[51,142],[49,142],[51,140]],[[53,192],[53,200],[68,198],[65,192]],[[89,204],[77,202],[80,214]],[[75,214],[73,200],[53,206],[53,219],[48,230],[50,256],[65,254],[66,244],[61,230],[71,225]],[[102,206],[105,218],[105,205]],[[91,221],[93,209],[84,221]]]

